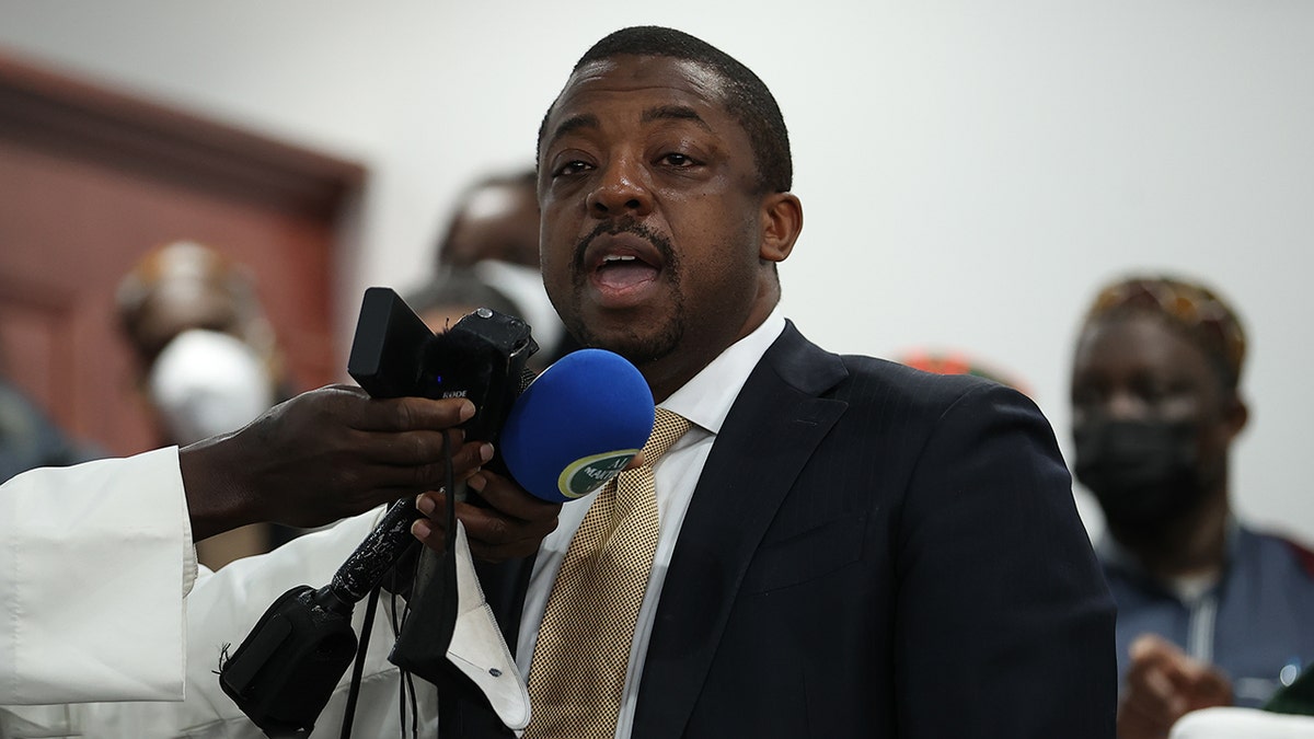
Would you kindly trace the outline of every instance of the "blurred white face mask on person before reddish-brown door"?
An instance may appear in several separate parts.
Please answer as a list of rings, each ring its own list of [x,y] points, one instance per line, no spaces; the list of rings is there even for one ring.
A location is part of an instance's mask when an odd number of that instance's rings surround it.
[[[240,339],[192,329],[173,337],[147,379],[172,442],[185,446],[235,431],[273,405],[273,385]]]

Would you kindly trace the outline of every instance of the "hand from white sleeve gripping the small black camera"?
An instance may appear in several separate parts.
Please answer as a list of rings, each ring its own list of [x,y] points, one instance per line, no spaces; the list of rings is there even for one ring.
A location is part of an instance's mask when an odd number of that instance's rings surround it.
[[[239,431],[179,452],[192,535],[258,521],[321,526],[435,489],[447,476],[448,429],[473,414],[460,398],[376,400],[348,385],[302,393]],[[453,448],[453,475],[464,477],[490,455],[487,444],[463,442]]]

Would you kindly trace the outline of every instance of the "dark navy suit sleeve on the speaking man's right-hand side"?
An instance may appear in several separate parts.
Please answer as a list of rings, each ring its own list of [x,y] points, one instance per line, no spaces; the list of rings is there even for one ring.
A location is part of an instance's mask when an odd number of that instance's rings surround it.
[[[1039,410],[972,385],[926,438],[899,515],[899,736],[1110,739],[1113,602]]]

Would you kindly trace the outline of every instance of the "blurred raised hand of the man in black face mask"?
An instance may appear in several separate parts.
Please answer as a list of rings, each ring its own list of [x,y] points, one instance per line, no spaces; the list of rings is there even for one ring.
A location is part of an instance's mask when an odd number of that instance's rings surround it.
[[[1164,739],[1187,713],[1233,702],[1231,682],[1222,672],[1160,636],[1138,636],[1130,656],[1118,702],[1118,739]]]

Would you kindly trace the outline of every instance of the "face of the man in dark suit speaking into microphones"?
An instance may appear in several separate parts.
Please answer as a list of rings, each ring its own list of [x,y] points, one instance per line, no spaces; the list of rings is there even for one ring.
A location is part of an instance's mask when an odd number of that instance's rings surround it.
[[[775,301],[753,149],[721,87],[691,62],[595,62],[540,142],[548,295],[577,338],[633,362],[658,396]]]

